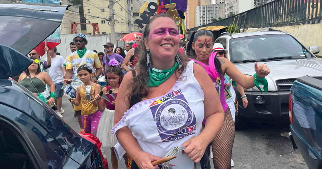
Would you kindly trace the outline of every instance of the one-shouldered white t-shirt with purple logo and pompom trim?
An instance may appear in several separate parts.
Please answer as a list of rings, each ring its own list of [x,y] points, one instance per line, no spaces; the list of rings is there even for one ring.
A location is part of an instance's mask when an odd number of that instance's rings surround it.
[[[194,77],[193,63],[188,63],[166,95],[132,106],[112,133],[128,126],[142,151],[160,157],[199,135],[204,119],[204,92]]]

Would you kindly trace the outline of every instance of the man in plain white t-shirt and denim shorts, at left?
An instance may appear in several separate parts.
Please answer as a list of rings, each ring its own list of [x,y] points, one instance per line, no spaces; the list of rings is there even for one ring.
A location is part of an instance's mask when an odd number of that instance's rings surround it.
[[[64,73],[62,70],[62,65],[64,64],[64,58],[62,56],[56,55],[56,52],[56,47],[53,47],[51,50],[49,50],[49,55],[52,58],[52,65],[50,68],[48,68],[48,73],[56,88],[57,114],[62,117],[62,85],[64,83]]]

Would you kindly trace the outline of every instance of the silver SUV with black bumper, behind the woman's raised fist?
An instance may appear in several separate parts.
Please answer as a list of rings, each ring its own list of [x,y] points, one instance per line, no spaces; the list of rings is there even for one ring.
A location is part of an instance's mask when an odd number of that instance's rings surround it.
[[[255,74],[255,61],[271,70],[266,76],[267,93],[260,93],[256,87],[245,89],[247,108],[242,107],[241,95],[235,90],[239,103],[236,129],[245,127],[248,121],[288,122],[289,90],[293,82],[302,76],[322,75],[322,59],[314,56],[319,52],[318,47],[306,48],[286,32],[271,28],[235,34],[225,32],[215,42],[228,50],[228,59],[246,76]]]

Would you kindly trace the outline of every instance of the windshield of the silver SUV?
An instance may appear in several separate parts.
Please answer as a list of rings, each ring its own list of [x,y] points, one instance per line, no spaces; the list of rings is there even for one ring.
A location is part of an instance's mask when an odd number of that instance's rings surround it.
[[[288,34],[269,34],[235,38],[230,41],[233,62],[246,60],[305,59],[312,55]]]

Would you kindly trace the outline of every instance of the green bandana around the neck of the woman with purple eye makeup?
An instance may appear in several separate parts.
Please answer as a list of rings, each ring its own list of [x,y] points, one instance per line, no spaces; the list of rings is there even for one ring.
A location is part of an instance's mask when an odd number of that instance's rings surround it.
[[[175,65],[171,69],[167,70],[158,70],[152,68],[149,70],[150,78],[147,81],[148,87],[156,87],[168,79],[172,73],[175,71],[175,68],[178,66],[178,63],[175,61]]]

